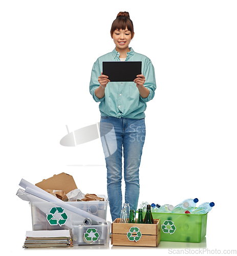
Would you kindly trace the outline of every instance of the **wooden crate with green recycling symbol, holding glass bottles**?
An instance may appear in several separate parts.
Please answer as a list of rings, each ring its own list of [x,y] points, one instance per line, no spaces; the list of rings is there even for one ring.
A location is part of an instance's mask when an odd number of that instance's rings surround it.
[[[112,223],[111,244],[120,246],[157,247],[160,243],[160,220],[154,219],[154,224]]]

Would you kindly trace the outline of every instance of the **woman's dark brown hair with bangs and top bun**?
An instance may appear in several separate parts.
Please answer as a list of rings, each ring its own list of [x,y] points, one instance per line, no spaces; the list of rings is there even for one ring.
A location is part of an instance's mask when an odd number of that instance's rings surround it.
[[[128,12],[119,12],[117,18],[114,20],[111,26],[111,37],[113,37],[113,33],[116,29],[120,30],[129,30],[132,33],[132,38],[134,36],[133,22],[130,19]]]

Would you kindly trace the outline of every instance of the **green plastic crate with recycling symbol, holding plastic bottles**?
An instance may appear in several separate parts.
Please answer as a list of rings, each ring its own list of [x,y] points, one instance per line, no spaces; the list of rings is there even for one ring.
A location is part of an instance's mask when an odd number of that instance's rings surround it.
[[[160,219],[161,241],[200,243],[206,236],[207,214],[152,212],[152,216]]]

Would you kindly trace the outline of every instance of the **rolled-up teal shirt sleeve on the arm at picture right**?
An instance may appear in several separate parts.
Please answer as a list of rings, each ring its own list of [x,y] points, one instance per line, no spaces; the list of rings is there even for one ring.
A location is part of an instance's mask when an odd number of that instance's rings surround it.
[[[154,67],[153,67],[151,61],[149,61],[147,63],[147,65],[145,66],[143,75],[145,76],[144,87],[149,90],[149,95],[146,98],[142,98],[140,96],[140,99],[143,102],[147,102],[147,101],[152,100],[154,98],[155,90],[156,90],[155,70],[154,70]]]

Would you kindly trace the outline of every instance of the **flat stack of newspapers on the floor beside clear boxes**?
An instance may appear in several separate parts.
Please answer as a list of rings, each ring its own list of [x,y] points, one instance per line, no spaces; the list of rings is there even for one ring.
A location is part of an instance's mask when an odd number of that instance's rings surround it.
[[[27,231],[23,248],[72,247],[70,230]]]

